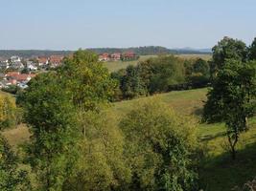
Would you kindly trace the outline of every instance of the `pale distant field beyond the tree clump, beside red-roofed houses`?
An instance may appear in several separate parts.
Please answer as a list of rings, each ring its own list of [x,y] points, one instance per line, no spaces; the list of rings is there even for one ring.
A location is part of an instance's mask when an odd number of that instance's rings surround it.
[[[120,69],[125,69],[128,65],[136,66],[139,61],[144,61],[151,57],[156,57],[157,55],[141,55],[139,60],[134,61],[112,61],[112,62],[104,62],[104,66],[109,70],[109,72],[115,72]],[[211,58],[210,54],[177,54],[176,56],[190,59],[190,58],[202,58],[205,60],[209,60]]]

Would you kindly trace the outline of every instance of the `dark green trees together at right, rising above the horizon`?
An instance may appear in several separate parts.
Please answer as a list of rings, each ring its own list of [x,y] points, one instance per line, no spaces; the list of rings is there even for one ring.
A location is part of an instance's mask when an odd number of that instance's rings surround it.
[[[224,37],[213,48],[211,64],[212,88],[204,106],[203,120],[223,121],[227,127],[232,159],[240,134],[248,129],[247,118],[255,114],[256,61],[254,44]]]

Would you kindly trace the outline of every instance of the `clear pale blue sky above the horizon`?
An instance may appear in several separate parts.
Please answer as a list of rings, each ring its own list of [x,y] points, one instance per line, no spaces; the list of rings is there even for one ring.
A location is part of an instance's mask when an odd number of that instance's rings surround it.
[[[0,49],[211,48],[256,36],[256,0],[0,0]]]

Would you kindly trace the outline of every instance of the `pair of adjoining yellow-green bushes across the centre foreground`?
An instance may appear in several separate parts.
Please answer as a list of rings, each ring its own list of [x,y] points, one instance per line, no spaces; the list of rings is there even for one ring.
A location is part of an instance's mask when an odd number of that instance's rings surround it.
[[[88,112],[76,174],[63,190],[196,190],[198,142],[190,118],[157,98],[136,102],[120,122]]]

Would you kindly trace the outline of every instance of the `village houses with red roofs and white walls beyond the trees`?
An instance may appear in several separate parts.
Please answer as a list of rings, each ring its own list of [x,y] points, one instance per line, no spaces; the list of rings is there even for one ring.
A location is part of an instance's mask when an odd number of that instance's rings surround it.
[[[11,86],[25,89],[36,74],[57,68],[61,65],[63,58],[63,55],[32,58],[22,58],[17,55],[12,55],[10,58],[0,57],[0,89],[8,89]],[[100,62],[129,61],[138,58],[139,56],[133,52],[99,54]]]

